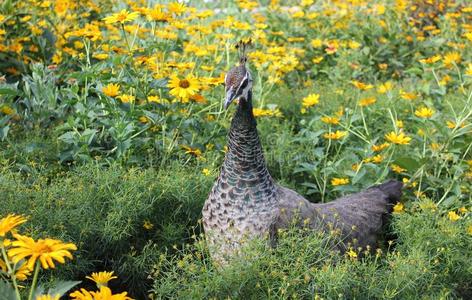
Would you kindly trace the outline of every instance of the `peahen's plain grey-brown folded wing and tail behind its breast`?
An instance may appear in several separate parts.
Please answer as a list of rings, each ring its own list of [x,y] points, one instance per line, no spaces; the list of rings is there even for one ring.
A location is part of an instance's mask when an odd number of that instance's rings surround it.
[[[276,227],[287,227],[298,218],[314,230],[337,235],[342,241],[339,243],[342,251],[350,245],[375,246],[385,216],[401,196],[401,188],[402,183],[388,181],[329,203],[314,204],[290,189],[279,187],[280,213]]]

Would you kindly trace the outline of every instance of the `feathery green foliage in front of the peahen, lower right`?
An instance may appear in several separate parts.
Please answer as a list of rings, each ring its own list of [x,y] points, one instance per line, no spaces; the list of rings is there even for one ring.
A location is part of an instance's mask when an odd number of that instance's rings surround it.
[[[183,247],[177,257],[161,257],[153,292],[170,299],[470,297],[472,237],[464,234],[467,224],[419,206],[412,208],[419,210],[415,213],[394,217],[397,242],[362,258],[333,253],[326,237],[292,229],[277,248],[252,245],[231,266],[216,269],[200,240]]]

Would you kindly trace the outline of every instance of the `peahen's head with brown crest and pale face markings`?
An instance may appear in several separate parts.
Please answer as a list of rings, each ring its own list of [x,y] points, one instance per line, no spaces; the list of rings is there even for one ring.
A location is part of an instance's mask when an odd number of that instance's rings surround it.
[[[251,41],[240,41],[236,45],[236,48],[238,48],[238,50],[240,51],[239,65],[229,70],[229,72],[225,76],[225,109],[227,109],[231,102],[233,102],[233,100],[235,99],[239,98],[240,101],[248,101],[249,92],[252,89],[252,76],[249,70],[246,68],[246,50],[250,43]]]

